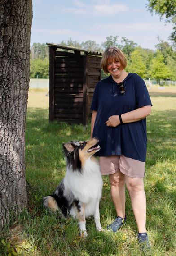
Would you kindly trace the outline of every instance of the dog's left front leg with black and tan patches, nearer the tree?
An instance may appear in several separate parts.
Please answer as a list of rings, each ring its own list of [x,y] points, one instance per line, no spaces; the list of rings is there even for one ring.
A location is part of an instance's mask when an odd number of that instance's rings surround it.
[[[84,204],[80,201],[75,201],[76,211],[77,211],[77,218],[79,220],[79,232],[83,238],[87,237],[86,231],[86,220],[85,220],[85,213],[84,213]]]

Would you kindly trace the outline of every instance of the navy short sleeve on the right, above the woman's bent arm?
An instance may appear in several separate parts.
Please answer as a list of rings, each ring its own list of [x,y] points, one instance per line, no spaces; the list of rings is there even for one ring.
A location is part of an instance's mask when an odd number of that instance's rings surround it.
[[[141,108],[148,105],[152,106],[149,92],[147,90],[144,80],[138,76],[138,79],[136,81],[136,107]]]

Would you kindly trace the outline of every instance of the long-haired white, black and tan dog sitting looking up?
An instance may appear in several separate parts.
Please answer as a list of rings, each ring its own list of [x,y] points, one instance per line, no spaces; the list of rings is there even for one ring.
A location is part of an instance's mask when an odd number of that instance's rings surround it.
[[[101,231],[99,201],[103,181],[95,156],[100,150],[99,139],[63,143],[66,159],[66,176],[52,195],[43,198],[45,208],[69,215],[79,221],[80,235],[87,237],[85,218],[93,215],[96,229]]]

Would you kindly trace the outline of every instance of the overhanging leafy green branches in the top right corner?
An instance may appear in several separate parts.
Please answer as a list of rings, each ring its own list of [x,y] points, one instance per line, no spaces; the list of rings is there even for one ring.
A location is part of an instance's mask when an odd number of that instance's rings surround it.
[[[173,23],[173,32],[171,33],[170,39],[176,46],[176,0],[148,0],[147,5],[149,11],[160,16],[165,17],[166,22]]]

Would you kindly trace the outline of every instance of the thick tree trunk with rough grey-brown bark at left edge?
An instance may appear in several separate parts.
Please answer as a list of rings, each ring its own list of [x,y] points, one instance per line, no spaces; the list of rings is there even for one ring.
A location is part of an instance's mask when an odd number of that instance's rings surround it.
[[[32,0],[0,0],[0,229],[27,206],[25,126]]]

